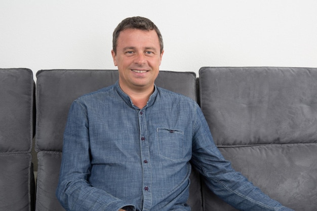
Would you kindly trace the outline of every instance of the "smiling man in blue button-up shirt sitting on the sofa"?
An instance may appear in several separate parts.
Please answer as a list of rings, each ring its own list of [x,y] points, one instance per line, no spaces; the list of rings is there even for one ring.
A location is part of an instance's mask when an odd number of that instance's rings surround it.
[[[186,211],[191,163],[241,210],[291,210],[270,199],[218,151],[199,106],[158,88],[163,39],[148,19],[113,32],[115,85],[75,100],[56,195],[66,210]]]

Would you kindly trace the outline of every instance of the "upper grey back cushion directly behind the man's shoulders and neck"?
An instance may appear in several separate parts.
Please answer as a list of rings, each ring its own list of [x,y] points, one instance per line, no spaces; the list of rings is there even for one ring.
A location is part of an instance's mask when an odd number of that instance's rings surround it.
[[[68,109],[76,98],[112,85],[117,70],[42,70],[37,81],[37,151],[62,151]],[[195,73],[160,71],[155,84],[195,98]]]

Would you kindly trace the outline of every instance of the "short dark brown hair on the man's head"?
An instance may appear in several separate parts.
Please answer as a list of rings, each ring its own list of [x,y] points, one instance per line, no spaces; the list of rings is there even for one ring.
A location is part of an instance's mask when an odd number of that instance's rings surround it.
[[[155,30],[157,36],[159,36],[161,53],[163,52],[163,37],[159,28],[157,28],[157,26],[151,20],[144,17],[137,16],[137,17],[124,19],[114,29],[113,35],[112,35],[112,49],[115,54],[116,54],[117,39],[119,37],[120,32],[125,29],[141,29],[146,31]]]

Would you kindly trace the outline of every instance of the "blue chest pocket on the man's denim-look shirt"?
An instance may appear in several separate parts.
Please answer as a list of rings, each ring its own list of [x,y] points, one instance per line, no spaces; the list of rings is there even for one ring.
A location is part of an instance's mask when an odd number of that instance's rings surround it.
[[[184,132],[177,129],[157,128],[160,155],[171,160],[183,158]]]

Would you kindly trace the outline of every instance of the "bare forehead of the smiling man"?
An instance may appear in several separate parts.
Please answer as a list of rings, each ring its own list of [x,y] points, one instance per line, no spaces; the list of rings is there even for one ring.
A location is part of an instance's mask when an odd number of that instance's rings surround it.
[[[117,47],[147,45],[160,48],[160,40],[155,30],[125,29],[120,32]]]

